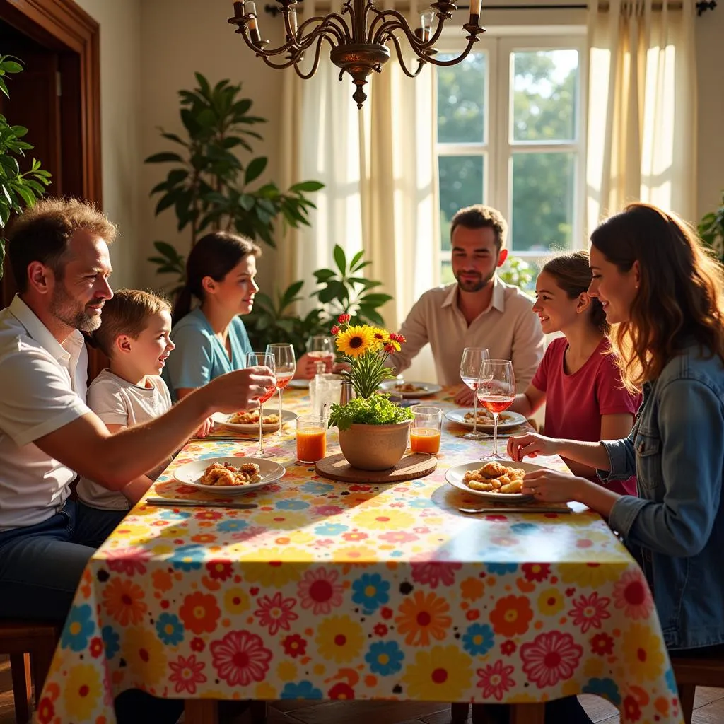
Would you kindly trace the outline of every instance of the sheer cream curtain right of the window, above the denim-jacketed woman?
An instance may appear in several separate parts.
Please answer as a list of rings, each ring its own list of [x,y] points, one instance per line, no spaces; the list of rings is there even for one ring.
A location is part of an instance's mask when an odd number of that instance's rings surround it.
[[[631,201],[696,214],[694,0],[589,5],[587,224]]]

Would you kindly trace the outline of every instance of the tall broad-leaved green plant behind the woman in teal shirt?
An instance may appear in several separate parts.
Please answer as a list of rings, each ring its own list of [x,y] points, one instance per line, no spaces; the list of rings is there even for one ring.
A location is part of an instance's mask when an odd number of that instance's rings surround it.
[[[303,181],[279,190],[273,182],[255,186],[266,169],[266,156],[244,163],[239,151],[253,153],[253,130],[266,119],[251,114],[252,101],[240,97],[241,84],[220,80],[213,87],[196,73],[197,88],[180,90],[180,117],[185,138],[162,128],[161,137],[180,146],[148,156],[147,164],[174,164],[166,180],[151,189],[159,195],[156,216],[172,208],[179,231],[190,228],[191,246],[204,233],[232,231],[274,247],[274,222],[281,218],[290,227],[308,226],[308,198],[324,187],[319,181]],[[176,274],[181,282],[185,261],[171,244],[153,243],[158,254],[148,261],[159,274]]]

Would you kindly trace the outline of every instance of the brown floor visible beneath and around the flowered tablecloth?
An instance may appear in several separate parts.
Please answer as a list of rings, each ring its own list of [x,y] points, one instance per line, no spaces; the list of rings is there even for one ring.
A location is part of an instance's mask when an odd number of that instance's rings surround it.
[[[586,695],[581,702],[595,723],[618,724],[617,710],[603,699]],[[697,689],[694,707],[692,724],[724,724],[724,689]],[[374,724],[447,724],[450,706],[413,702],[274,702],[269,716],[269,724],[360,724],[371,720]],[[7,657],[0,657],[0,724],[14,721],[10,664]],[[246,722],[245,715],[233,720],[233,724]]]

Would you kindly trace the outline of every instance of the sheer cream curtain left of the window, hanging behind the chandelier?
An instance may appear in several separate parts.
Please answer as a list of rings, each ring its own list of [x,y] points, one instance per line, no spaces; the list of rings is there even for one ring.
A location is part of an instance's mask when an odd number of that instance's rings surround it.
[[[311,17],[307,1],[305,15]],[[413,2],[413,28],[418,18]],[[364,87],[369,97],[363,111],[353,101],[350,77],[340,81],[338,75],[324,46],[311,80],[291,70],[285,79],[282,153],[291,159],[289,181],[326,185],[314,195],[311,229],[284,242],[291,252],[288,273],[308,279],[311,291],[311,272],[332,264],[335,244],[348,257],[362,249],[372,261],[366,276],[382,281],[379,291],[392,295],[382,314],[387,327],[397,329],[418,296],[439,282],[434,75],[426,67],[417,78],[406,77],[392,49],[382,73],[373,73]]]

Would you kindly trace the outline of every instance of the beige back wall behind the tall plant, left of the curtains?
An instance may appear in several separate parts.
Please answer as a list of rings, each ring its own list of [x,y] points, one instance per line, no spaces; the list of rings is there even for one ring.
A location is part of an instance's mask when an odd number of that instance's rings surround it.
[[[258,7],[263,6],[263,1]],[[141,58],[143,84],[141,88],[142,156],[170,150],[173,143],[159,137],[158,126],[182,133],[179,118],[178,90],[195,86],[194,72],[205,75],[211,83],[229,78],[232,83],[243,82],[242,95],[253,100],[254,114],[268,119],[255,130],[264,136],[264,143],[255,147],[255,155],[267,156],[269,165],[261,182],[279,183],[279,109],[281,106],[282,72],[267,68],[244,45],[235,27],[226,21],[232,15],[230,0],[146,0],[141,5]],[[259,19],[263,32],[277,25],[271,17]],[[250,156],[245,156],[246,159]],[[179,251],[188,253],[189,233],[179,234],[172,209],[153,216],[156,201],[148,199],[148,191],[163,180],[167,164],[143,164],[143,216],[141,243],[150,250],[157,239],[174,243]],[[144,256],[148,256],[146,253]],[[274,276],[274,253],[264,247],[259,265],[259,281],[266,288]],[[143,265],[140,281],[158,284],[158,277],[148,264]]]

